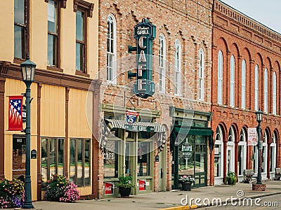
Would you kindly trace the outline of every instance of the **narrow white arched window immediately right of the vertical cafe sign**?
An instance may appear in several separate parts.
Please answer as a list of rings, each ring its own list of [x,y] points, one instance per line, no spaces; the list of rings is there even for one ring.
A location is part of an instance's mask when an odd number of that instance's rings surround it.
[[[159,36],[159,92],[165,92],[166,80],[166,39],[163,34]]]

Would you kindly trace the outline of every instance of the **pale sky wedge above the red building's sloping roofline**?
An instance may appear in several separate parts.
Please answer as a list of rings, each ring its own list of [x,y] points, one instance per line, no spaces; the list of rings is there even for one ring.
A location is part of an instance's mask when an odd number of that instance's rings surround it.
[[[221,0],[281,34],[281,0]]]

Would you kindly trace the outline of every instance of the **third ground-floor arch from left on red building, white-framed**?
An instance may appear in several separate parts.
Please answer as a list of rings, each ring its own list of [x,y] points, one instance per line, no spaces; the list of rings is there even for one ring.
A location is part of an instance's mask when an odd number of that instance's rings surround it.
[[[237,172],[238,172],[238,179],[242,181],[242,176],[244,169],[246,169],[246,155],[247,155],[247,142],[246,142],[246,131],[242,128],[240,132],[240,141],[238,143],[238,155],[237,155]],[[240,177],[239,177],[240,176]]]

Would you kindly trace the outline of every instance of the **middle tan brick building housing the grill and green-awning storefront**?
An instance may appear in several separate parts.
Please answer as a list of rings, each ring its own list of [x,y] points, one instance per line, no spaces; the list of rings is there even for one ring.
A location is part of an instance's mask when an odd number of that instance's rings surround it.
[[[181,174],[195,176],[195,186],[209,184],[212,3],[205,0],[100,1],[98,52],[99,78],[103,80],[100,118],[111,125],[112,134],[97,157],[99,196],[118,195],[117,189],[110,189],[122,174],[133,176],[136,183],[133,194],[178,188]],[[155,56],[152,80],[156,91],[148,99],[136,97],[133,93],[136,78],[128,78],[129,70],[136,72],[136,52],[129,52],[129,45],[136,46],[133,30],[143,18],[156,27],[152,45]],[[166,144],[162,151],[153,140],[157,138],[155,133],[124,129],[125,111],[129,109],[138,111],[141,122],[152,126],[159,123],[165,128]],[[186,136],[191,122],[190,137],[182,137],[181,144],[175,146],[176,137]],[[185,130],[180,131],[181,127]],[[204,134],[200,135],[203,129]],[[122,147],[124,142],[140,144]],[[192,143],[192,158],[183,157],[183,142]],[[140,155],[145,149],[148,153]],[[131,151],[135,152],[128,155]],[[200,163],[198,171],[195,171],[195,158]]]

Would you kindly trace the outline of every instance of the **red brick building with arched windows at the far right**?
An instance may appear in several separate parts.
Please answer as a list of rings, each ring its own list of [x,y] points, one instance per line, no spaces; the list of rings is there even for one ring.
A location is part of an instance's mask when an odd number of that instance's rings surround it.
[[[258,125],[259,109],[262,179],[270,179],[281,165],[281,34],[221,1],[214,1],[213,18],[211,185],[222,183],[228,171],[239,181],[244,169],[257,172],[257,146],[247,146],[247,134]]]

